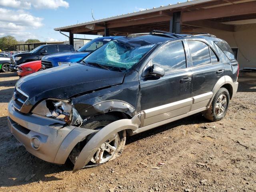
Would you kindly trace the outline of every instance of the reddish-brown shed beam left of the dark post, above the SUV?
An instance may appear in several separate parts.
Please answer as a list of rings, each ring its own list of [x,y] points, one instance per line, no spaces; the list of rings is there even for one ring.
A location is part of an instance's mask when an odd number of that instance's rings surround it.
[[[126,26],[133,26],[133,25],[142,25],[142,24],[149,24],[149,23],[158,23],[170,21],[170,16],[160,16],[155,18],[147,18],[141,20],[134,20],[129,22],[121,22],[121,23],[112,23],[108,24],[108,28],[118,28],[118,27],[126,27]]]

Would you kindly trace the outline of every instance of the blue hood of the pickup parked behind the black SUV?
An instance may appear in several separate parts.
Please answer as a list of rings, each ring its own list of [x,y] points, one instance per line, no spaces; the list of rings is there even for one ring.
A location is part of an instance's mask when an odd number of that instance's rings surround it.
[[[68,61],[68,62],[72,62],[72,59],[82,59],[85,56],[87,56],[88,54],[90,54],[89,52],[68,52],[68,53],[56,53],[56,54],[52,54],[52,55],[47,55],[44,56],[42,58],[42,60],[55,60],[56,58],[58,58],[58,61]],[[78,61],[77,60],[77,61]]]

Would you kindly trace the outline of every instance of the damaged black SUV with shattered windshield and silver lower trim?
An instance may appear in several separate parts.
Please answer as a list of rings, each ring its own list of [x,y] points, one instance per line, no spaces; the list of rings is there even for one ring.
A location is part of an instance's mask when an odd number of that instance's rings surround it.
[[[69,157],[77,171],[119,156],[127,134],[198,112],[221,120],[237,76],[230,46],[215,36],[132,34],[80,63],[21,78],[8,125],[28,152],[56,164]]]

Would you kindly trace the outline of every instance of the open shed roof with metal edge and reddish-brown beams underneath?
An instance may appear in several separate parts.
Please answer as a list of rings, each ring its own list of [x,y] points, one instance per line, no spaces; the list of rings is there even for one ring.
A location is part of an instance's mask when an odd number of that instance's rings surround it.
[[[233,22],[256,19],[256,0],[192,0],[158,8],[122,14],[100,20],[55,28],[71,34],[124,35],[152,30],[182,32],[193,28],[235,31]],[[178,32],[180,31],[178,30]],[[175,30],[176,31],[176,30]],[[72,40],[71,40],[72,41]]]

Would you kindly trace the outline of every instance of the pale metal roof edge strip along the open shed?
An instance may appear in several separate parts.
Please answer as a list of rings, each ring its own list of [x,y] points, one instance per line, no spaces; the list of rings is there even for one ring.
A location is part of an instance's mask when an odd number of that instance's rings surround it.
[[[141,14],[158,12],[158,11],[162,11],[162,10],[171,10],[171,9],[174,9],[174,8],[182,8],[182,7],[186,7],[186,6],[192,6],[192,5],[201,4],[201,3],[205,3],[205,2],[211,2],[211,1],[215,1],[215,0],[192,0],[192,1],[187,0],[186,2],[182,2],[182,3],[178,2],[177,4],[169,4],[167,6],[160,6],[160,7],[157,7],[157,8],[153,7],[151,9],[146,9],[146,10],[143,10],[143,11],[112,16],[112,17],[103,18],[103,19],[94,20],[94,21],[89,21],[89,22],[84,22],[84,23],[80,23],[80,24],[58,27],[58,28],[54,28],[54,30],[56,30],[56,31],[59,31],[59,30],[68,31],[71,28],[76,28],[76,27],[80,27],[80,26],[84,26],[84,25],[96,24],[96,23],[100,23],[100,22],[108,22],[108,21],[111,21],[111,20],[127,18],[127,17],[130,17],[130,16],[137,16],[137,15],[141,15]]]

